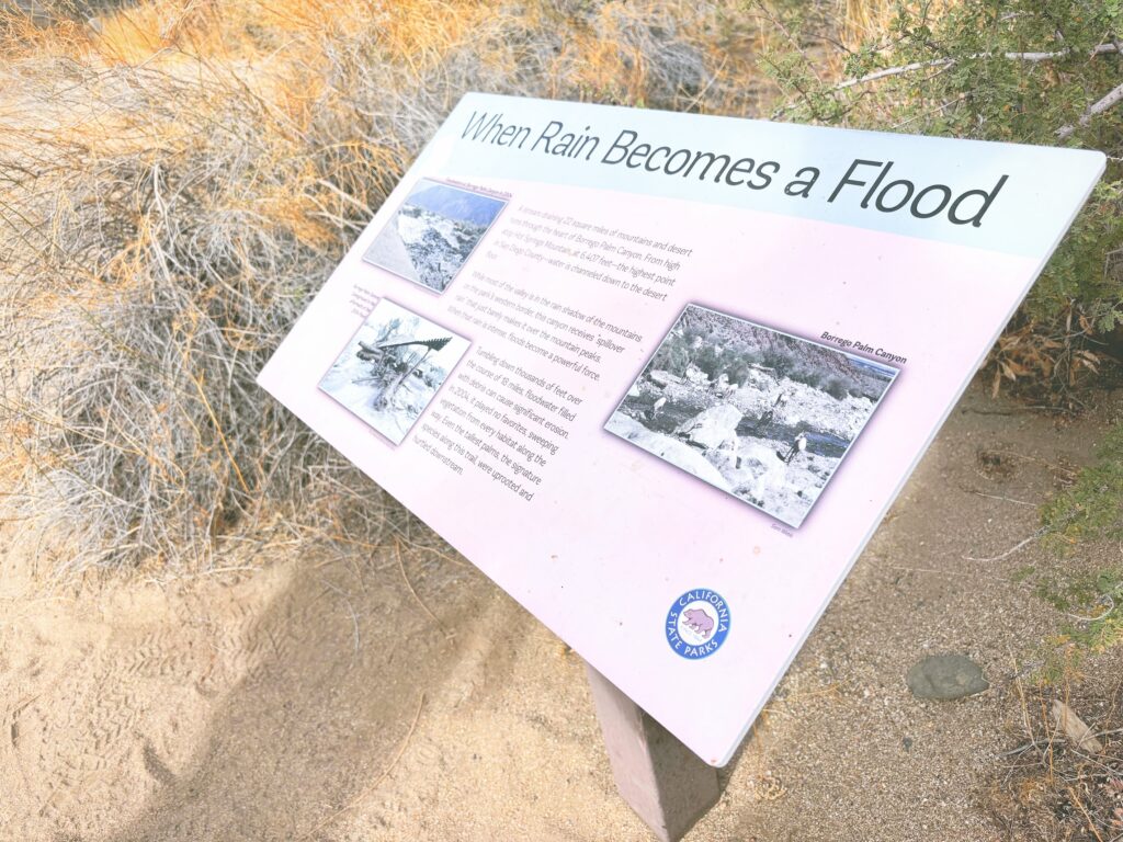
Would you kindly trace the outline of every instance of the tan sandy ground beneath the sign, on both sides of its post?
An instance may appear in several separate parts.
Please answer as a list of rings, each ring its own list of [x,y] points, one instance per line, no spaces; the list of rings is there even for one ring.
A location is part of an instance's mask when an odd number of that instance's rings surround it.
[[[688,840],[1004,839],[985,793],[1017,744],[1013,677],[1058,623],[1014,573],[1062,562],[970,559],[1033,532],[1107,417],[971,391]],[[0,548],[4,842],[648,839],[581,660],[465,564],[325,552],[74,593],[29,557]],[[913,698],[937,652],[992,688]]]

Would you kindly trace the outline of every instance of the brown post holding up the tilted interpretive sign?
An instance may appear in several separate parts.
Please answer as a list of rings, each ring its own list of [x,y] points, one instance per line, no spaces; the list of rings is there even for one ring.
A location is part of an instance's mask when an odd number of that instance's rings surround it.
[[[718,803],[718,770],[588,663],[585,670],[617,789],[661,842],[678,842]]]

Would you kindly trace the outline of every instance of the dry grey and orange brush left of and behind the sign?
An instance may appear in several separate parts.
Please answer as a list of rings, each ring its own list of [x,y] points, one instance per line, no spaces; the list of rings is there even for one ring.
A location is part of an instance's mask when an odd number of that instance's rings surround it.
[[[732,4],[93,11],[0,19],[3,516],[64,574],[381,528],[377,489],[254,376],[463,92],[760,97],[759,22]]]

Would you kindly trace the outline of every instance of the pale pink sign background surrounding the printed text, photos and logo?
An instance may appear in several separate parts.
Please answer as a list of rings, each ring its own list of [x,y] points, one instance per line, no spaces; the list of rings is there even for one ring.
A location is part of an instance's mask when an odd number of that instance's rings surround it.
[[[462,138],[473,110],[514,113],[522,107],[521,100],[481,95],[462,102],[280,346],[261,384],[700,757],[720,766],[736,750],[1037,276],[1098,177],[1102,158],[1040,150],[1042,156],[1058,156],[1061,164],[1071,162],[1071,177],[1080,184],[1067,207],[1052,211],[1050,241],[1031,244],[1035,254],[1011,253],[988,247],[986,222],[977,242],[966,245],[664,196],[657,183],[639,192],[619,183],[611,190],[570,185],[557,173],[542,180],[527,179],[524,172],[519,173],[523,177],[511,177],[502,157],[471,166],[458,163],[473,159]],[[564,108],[574,119],[587,113],[590,121],[599,112],[572,103]],[[643,119],[655,130],[660,120],[678,125],[705,118],[648,112]],[[720,123],[721,132],[748,138],[757,126]],[[809,148],[831,139],[829,131],[816,132],[806,140]],[[897,139],[898,157],[913,152],[913,140]],[[949,156],[959,152],[953,141],[931,143],[946,145],[939,148]],[[971,146],[971,154],[983,155],[982,146]],[[1010,162],[1003,164],[1003,147],[990,154],[994,172],[1011,172]],[[1057,165],[1051,157],[1049,162]],[[1013,172],[1011,183],[1020,175]],[[440,295],[362,260],[383,227],[395,225],[399,205],[421,177],[456,180],[509,196],[504,212]],[[1030,210],[996,202],[988,213]],[[626,228],[652,241],[669,240],[690,249],[688,257],[678,258],[682,265],[673,284],[654,287],[666,293],[659,300],[551,266],[541,249],[524,241],[519,249],[503,247],[519,241],[512,235],[520,219],[531,221],[533,212],[544,211],[603,230]],[[478,298],[473,290],[484,287],[480,275],[627,327],[642,339],[615,337],[624,348],[600,354],[596,379],[553,364],[512,341],[518,331],[509,330],[504,338],[480,323],[486,317],[469,306],[469,300]],[[318,388],[364,321],[353,302],[356,287],[385,296],[469,342],[455,369],[436,384],[435,394],[432,384],[410,382],[423,395],[410,408],[413,412],[420,406],[417,421],[396,446]],[[688,304],[828,346],[824,333],[858,339],[905,360],[865,355],[897,369],[897,375],[797,528],[604,429]],[[493,312],[496,309],[502,308]],[[557,450],[545,465],[533,467],[541,482],[532,486],[529,500],[475,469],[455,450],[447,459],[435,455],[435,430],[447,430],[464,443],[451,424],[436,420],[449,417],[453,390],[472,393],[464,378],[478,381],[480,368],[495,370],[495,360],[555,384],[554,394],[559,388],[579,399],[579,404],[568,404],[576,418],[565,422],[566,437],[548,437]],[[503,386],[496,385],[496,391],[502,393]],[[508,394],[506,400],[512,399],[515,395]],[[462,470],[451,469],[449,460],[459,463]],[[531,487],[522,476],[522,485]],[[705,658],[682,657],[665,628],[675,601],[694,589],[720,594],[731,617],[720,648]]]

